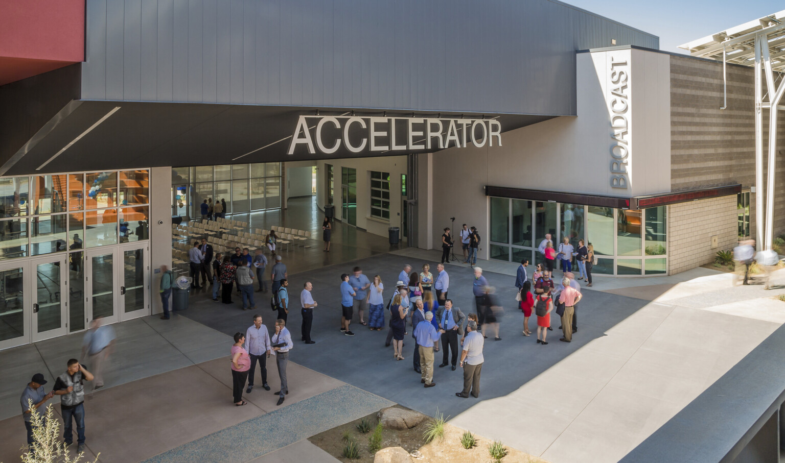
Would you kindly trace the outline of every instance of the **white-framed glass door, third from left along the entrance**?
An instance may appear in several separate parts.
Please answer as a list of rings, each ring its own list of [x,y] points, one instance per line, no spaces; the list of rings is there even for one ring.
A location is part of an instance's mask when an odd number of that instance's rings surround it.
[[[85,302],[87,318],[104,317],[104,323],[119,321],[115,309],[119,293],[118,268],[115,250],[89,250],[85,252]]]

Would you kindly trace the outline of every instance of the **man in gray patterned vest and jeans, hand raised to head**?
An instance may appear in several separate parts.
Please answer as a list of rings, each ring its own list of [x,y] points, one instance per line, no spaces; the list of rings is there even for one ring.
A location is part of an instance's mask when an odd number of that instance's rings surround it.
[[[76,434],[79,447],[76,452],[85,450],[85,386],[84,381],[93,381],[93,374],[79,364],[79,360],[68,360],[68,370],[54,381],[54,393],[60,396],[60,410],[63,413],[63,439],[66,445],[74,443],[73,423],[76,420]]]

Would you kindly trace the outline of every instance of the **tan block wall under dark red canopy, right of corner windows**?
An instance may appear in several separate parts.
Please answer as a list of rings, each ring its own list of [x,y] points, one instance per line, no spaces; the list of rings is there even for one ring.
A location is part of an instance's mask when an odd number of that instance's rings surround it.
[[[717,251],[736,246],[737,230],[736,195],[668,206],[668,274],[713,262]]]

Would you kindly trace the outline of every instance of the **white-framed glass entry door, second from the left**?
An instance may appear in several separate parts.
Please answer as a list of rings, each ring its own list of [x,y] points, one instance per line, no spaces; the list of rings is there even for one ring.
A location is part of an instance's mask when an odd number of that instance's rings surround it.
[[[68,331],[68,264],[66,254],[33,259],[31,263],[32,341]]]

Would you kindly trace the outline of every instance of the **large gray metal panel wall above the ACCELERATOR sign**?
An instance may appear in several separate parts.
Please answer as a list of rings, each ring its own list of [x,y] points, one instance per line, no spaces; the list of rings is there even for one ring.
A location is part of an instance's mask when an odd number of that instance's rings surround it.
[[[575,50],[659,39],[554,0],[87,0],[96,100],[575,115]],[[153,91],[155,90],[155,91]]]

